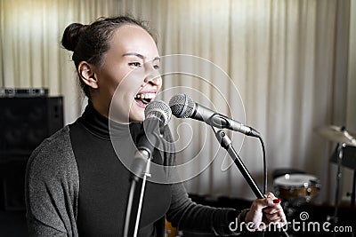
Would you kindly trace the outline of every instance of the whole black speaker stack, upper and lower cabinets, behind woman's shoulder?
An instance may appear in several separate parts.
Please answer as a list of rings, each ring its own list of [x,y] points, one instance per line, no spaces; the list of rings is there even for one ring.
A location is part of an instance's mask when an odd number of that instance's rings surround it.
[[[0,98],[0,202],[4,209],[24,209],[28,157],[62,127],[61,97]]]

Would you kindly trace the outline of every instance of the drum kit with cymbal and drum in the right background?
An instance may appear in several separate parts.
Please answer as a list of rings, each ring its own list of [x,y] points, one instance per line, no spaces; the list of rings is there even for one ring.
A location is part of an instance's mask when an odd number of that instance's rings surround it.
[[[356,149],[356,134],[349,133],[344,127],[328,126],[325,128],[316,129],[315,132],[323,138],[328,138],[330,141],[337,142],[337,174],[336,174],[336,202],[335,208],[337,216],[337,205],[339,196],[339,183],[341,177],[341,165],[343,159],[343,149],[345,146],[352,146]],[[354,150],[352,150],[353,152]],[[355,159],[353,159],[355,158]],[[356,163],[356,155],[352,157],[353,163]],[[352,163],[352,164],[353,164]],[[350,166],[349,166],[350,167]],[[352,206],[355,199],[355,179],[356,167],[351,167],[355,170],[352,187]],[[312,201],[320,192],[320,179],[312,174],[306,174],[302,171],[279,173],[279,176],[274,176],[273,179],[274,191],[285,203],[285,208],[294,209],[305,203]]]

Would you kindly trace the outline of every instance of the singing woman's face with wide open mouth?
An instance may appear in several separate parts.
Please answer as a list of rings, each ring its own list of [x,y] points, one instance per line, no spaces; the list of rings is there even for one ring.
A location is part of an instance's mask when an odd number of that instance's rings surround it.
[[[115,32],[104,57],[103,66],[95,68],[93,106],[117,122],[143,121],[145,107],[162,85],[156,43],[143,28],[125,25]]]

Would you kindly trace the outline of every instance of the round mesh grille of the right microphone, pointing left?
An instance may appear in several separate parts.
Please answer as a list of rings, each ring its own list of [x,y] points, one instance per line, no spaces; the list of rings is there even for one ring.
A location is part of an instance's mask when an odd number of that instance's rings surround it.
[[[172,114],[177,118],[189,118],[193,115],[195,103],[190,96],[177,94],[169,100],[169,107],[172,109]]]

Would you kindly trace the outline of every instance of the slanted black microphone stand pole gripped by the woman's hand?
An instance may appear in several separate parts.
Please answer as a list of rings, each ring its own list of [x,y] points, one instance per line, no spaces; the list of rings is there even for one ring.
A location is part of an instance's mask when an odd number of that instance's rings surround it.
[[[251,187],[252,191],[256,195],[258,199],[263,199],[264,196],[259,189],[259,187],[256,185],[254,178],[251,177],[250,173],[248,172],[245,164],[241,161],[239,158],[239,154],[236,152],[235,148],[232,146],[231,139],[228,137],[225,131],[223,130],[216,130],[214,126],[211,126],[212,129],[214,130],[215,137],[219,141],[220,145],[223,146],[225,150],[230,154],[231,159],[233,162],[236,164],[236,166],[239,168],[239,171],[243,175],[243,177],[246,179],[247,184]],[[288,233],[286,231],[283,231],[284,235],[288,237]],[[264,235],[264,233],[262,233]]]

